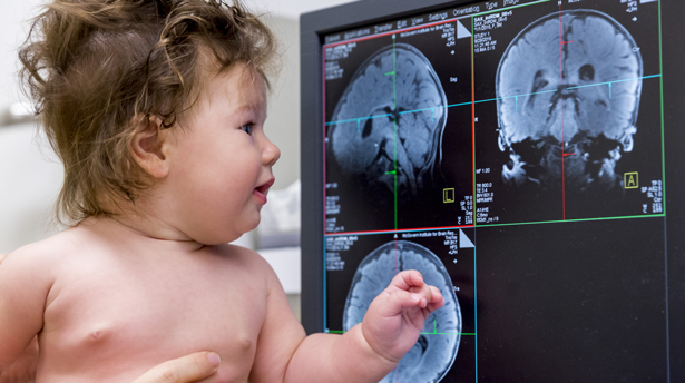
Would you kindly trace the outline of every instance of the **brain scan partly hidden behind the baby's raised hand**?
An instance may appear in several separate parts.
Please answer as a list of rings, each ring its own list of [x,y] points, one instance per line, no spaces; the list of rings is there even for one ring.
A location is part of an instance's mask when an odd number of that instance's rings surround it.
[[[417,269],[425,283],[440,289],[444,306],[432,313],[419,341],[402,357],[397,372],[381,382],[440,382],[450,370],[461,334],[461,310],[452,289],[452,281],[442,262],[428,248],[404,240],[382,245],[360,264],[348,293],[343,314],[343,328],[349,331],[360,323],[371,302],[383,292],[395,271]]]

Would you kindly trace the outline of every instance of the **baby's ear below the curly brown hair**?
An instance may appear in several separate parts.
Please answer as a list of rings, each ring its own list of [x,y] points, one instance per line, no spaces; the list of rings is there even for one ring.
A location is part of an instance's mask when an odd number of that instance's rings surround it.
[[[164,155],[164,147],[170,138],[168,129],[163,127],[162,119],[157,116],[135,117],[134,124],[136,132],[129,146],[131,157],[150,176],[166,177],[169,164]]]

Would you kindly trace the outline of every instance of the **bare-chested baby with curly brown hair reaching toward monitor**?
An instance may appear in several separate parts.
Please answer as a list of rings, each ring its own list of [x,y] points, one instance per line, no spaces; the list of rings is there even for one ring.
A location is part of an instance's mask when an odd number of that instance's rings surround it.
[[[398,274],[343,335],[305,336],[258,254],[280,151],[274,39],[239,3],[55,0],[20,50],[65,166],[69,228],[0,266],[0,371],[38,335],[37,382],[131,382],[212,350],[206,382],[378,382],[444,304]],[[203,382],[205,382],[203,381]]]

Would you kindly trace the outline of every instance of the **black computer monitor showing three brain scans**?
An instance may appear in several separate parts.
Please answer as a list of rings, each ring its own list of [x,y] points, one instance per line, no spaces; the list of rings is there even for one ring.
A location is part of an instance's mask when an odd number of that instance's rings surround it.
[[[685,3],[301,18],[302,321],[403,269],[447,304],[383,382],[685,381]]]

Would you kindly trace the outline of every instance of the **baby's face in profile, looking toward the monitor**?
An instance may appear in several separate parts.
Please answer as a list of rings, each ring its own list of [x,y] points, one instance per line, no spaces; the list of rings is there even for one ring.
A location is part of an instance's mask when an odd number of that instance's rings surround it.
[[[266,92],[245,65],[209,75],[199,102],[174,128],[167,183],[175,225],[205,245],[237,239],[260,223],[281,153],[264,135]]]

